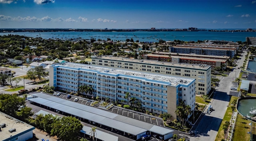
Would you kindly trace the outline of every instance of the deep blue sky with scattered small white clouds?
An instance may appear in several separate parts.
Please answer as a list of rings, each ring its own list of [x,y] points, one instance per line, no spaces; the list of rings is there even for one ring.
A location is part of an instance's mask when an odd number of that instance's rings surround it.
[[[0,0],[0,28],[253,28],[256,0]]]

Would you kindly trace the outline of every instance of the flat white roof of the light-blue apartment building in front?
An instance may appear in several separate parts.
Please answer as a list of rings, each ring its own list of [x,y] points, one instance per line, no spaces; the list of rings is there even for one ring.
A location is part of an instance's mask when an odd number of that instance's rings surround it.
[[[188,85],[188,84],[190,84],[190,82],[192,82],[194,80],[193,78],[168,76],[168,75],[162,75],[162,74],[157,75],[157,74],[153,74],[153,73],[137,72],[137,71],[126,71],[126,70],[122,70],[122,69],[112,69],[112,68],[107,68],[107,67],[92,66],[92,65],[80,64],[80,63],[61,63],[61,64],[56,64],[56,65],[54,64],[52,66],[94,70],[94,71],[108,73],[108,74],[114,74],[114,75],[123,74],[126,76],[146,78],[147,80],[158,81],[158,83],[168,82],[174,86],[177,86],[178,84]]]

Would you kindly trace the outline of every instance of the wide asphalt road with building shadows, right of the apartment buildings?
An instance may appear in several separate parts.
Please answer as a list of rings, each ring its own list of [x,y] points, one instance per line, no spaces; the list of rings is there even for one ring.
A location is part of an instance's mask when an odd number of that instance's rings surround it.
[[[246,51],[242,53],[239,61],[236,63],[238,66],[242,66],[243,60],[245,59]],[[215,88],[214,96],[211,102],[204,110],[202,119],[196,123],[192,128],[192,131],[196,133],[194,137],[190,138],[190,141],[214,141],[220,128],[222,119],[226,113],[227,106],[229,104],[231,96],[228,95],[232,86],[232,81],[239,76],[241,69],[234,69],[230,72],[228,77],[222,77],[219,85]],[[213,106],[212,112],[206,113],[209,106]]]

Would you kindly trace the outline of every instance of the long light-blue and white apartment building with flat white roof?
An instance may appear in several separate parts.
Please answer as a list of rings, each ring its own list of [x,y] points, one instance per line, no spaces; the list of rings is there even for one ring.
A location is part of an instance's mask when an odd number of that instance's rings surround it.
[[[78,63],[50,66],[50,86],[77,93],[80,86],[92,87],[92,95],[136,106],[156,114],[169,113],[176,119],[176,106],[184,101],[195,108],[196,80],[149,72],[126,71]],[[126,94],[129,97],[126,97]],[[140,106],[140,105],[138,105]]]

